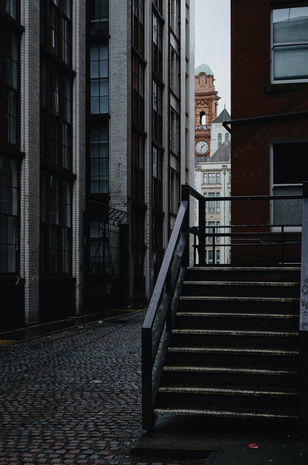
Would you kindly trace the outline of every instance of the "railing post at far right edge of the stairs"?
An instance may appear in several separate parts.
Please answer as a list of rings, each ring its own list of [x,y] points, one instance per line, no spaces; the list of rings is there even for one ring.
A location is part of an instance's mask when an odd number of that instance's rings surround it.
[[[299,333],[299,419],[302,435],[308,436],[308,181],[302,188],[302,263]]]

